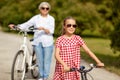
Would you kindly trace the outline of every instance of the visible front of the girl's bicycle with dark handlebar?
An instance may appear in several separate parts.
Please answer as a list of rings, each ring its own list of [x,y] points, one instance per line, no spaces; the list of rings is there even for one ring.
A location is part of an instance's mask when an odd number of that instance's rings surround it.
[[[94,78],[88,73],[96,66],[93,64],[90,64],[89,69],[85,69],[85,66],[80,66],[80,68],[70,68],[70,72],[72,71],[78,71],[81,74],[81,80],[94,80]]]

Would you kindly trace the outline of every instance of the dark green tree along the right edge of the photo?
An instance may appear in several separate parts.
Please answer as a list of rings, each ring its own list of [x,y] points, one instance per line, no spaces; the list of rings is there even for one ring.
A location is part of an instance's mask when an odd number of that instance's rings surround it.
[[[120,0],[114,1],[113,7],[113,23],[114,23],[114,31],[110,35],[111,39],[111,48],[114,52],[120,51]]]

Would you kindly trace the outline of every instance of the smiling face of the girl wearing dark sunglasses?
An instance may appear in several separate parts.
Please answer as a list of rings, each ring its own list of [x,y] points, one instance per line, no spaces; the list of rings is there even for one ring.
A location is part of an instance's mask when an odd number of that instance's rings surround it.
[[[66,20],[65,25],[64,25],[65,34],[72,35],[75,32],[76,27],[77,25],[74,19]]]

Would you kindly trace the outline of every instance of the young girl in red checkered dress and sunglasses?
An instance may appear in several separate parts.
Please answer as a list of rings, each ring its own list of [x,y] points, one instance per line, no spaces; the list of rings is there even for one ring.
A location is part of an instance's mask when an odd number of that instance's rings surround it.
[[[56,67],[53,80],[80,80],[78,72],[68,72],[71,67],[80,67],[80,47],[96,61],[97,66],[104,66],[86,46],[83,39],[74,34],[76,27],[75,19],[72,17],[65,18],[63,22],[63,35],[56,40]]]

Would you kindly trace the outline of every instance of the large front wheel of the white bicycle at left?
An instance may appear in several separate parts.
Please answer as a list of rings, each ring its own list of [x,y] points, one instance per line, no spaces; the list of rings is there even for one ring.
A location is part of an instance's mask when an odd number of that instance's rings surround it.
[[[25,79],[25,71],[26,64],[23,60],[24,51],[19,50],[14,57],[12,70],[11,70],[11,80],[24,80]]]

